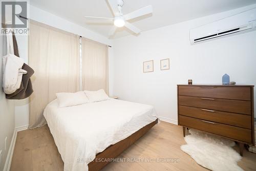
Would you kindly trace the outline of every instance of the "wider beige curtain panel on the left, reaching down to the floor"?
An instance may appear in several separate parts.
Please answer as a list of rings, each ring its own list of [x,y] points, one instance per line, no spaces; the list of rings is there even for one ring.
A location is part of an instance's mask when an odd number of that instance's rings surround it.
[[[79,91],[79,36],[30,21],[29,66],[35,71],[30,96],[32,129],[46,124],[42,113],[55,93]]]

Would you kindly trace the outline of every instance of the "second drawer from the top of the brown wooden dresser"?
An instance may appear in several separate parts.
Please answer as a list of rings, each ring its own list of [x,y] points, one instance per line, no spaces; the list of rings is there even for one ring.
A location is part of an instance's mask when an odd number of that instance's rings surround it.
[[[179,96],[179,104],[196,108],[251,115],[250,101]]]

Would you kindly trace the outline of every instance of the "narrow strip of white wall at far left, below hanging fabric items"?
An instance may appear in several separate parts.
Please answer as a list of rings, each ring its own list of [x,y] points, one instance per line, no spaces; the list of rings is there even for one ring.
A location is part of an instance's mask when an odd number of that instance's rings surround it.
[[[3,63],[2,57],[6,55],[6,38],[0,36],[0,151],[2,150],[2,159],[0,156],[0,170],[4,169],[8,150],[14,133],[14,102],[5,98],[3,92]],[[5,138],[7,137],[7,146],[5,149]]]

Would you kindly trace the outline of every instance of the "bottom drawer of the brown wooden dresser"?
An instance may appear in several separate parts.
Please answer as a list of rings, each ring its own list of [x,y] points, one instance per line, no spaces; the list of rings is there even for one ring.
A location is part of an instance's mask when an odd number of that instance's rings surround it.
[[[243,129],[241,127],[230,126],[215,122],[208,122],[182,115],[179,116],[179,124],[201,131],[221,135],[224,137],[237,139],[243,142],[252,143],[251,130]]]

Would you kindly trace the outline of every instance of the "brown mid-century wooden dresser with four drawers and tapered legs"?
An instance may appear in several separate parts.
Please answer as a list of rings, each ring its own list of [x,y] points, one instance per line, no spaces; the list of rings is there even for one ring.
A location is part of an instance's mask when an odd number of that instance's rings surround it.
[[[178,123],[239,142],[254,145],[253,86],[179,84]]]

